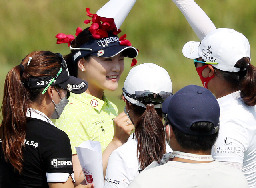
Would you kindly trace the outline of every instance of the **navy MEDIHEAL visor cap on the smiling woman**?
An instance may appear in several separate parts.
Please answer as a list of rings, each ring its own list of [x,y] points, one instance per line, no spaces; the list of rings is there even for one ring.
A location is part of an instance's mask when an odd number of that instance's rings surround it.
[[[84,50],[85,48],[88,50]],[[120,45],[118,36],[108,33],[108,37],[92,39],[80,46],[79,50],[75,50],[75,52],[73,52],[73,62],[77,63],[79,59],[88,55],[108,58],[114,57],[121,52],[124,54],[124,57],[135,58],[138,55],[136,48],[133,46]]]

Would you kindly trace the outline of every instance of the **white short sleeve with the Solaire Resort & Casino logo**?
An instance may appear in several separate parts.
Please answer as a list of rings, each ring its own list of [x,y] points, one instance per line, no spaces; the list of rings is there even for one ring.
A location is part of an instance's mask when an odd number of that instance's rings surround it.
[[[220,125],[218,138],[212,147],[212,155],[214,159],[221,162],[243,164],[247,148],[248,134],[246,130],[231,119]]]

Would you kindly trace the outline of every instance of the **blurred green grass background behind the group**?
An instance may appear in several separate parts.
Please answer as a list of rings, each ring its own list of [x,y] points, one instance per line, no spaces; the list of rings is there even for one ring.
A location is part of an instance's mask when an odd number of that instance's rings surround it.
[[[50,50],[68,54],[67,44],[56,45],[57,33],[75,34],[76,28],[86,28],[86,7],[96,13],[108,0],[1,0],[0,1],[0,104],[4,79],[11,67],[35,50]],[[256,52],[255,0],[196,0],[217,28],[230,27],[243,33],[251,45],[252,64]],[[203,23],[202,23],[203,24]],[[137,0],[122,24],[122,34],[140,50],[138,64],[150,62],[164,67],[176,92],[188,84],[201,86],[194,63],[182,55],[187,41],[198,38],[171,0]],[[106,91],[119,111],[124,102],[118,99],[131,59],[115,92]],[[154,76],[154,75],[152,75]],[[157,78],[156,78],[157,79]],[[18,92],[18,91],[17,91]]]

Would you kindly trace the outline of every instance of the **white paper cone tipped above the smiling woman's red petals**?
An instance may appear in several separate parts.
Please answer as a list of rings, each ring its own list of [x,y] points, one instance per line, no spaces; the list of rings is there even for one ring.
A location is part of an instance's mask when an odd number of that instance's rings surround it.
[[[136,0],[110,0],[96,14],[104,18],[113,18],[116,28],[119,29],[135,2]]]

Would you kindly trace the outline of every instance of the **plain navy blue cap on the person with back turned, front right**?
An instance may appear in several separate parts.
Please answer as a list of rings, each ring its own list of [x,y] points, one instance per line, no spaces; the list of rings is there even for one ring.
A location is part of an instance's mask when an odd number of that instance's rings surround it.
[[[169,122],[183,133],[211,135],[219,130],[220,106],[210,90],[188,85],[164,100],[162,111]],[[214,129],[208,133],[190,130],[196,122],[210,122]]]

